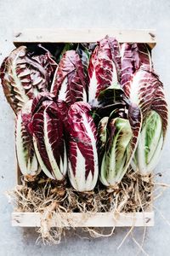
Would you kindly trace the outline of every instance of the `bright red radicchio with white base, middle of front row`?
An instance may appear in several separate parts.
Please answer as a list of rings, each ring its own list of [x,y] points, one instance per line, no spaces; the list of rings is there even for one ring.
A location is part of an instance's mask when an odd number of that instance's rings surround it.
[[[97,131],[88,103],[76,102],[68,111],[69,154],[71,184],[77,191],[94,189],[98,174]]]

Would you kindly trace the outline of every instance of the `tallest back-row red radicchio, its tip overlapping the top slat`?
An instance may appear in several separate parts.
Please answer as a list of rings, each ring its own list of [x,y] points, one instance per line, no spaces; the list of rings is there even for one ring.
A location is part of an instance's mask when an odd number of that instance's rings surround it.
[[[101,92],[114,88],[121,81],[121,56],[115,38],[100,40],[90,58],[88,67],[88,101],[99,98]]]

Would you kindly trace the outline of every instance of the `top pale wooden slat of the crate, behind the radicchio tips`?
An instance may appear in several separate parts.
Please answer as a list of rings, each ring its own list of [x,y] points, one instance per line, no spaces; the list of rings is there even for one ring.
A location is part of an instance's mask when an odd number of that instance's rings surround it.
[[[24,29],[14,32],[14,45],[26,43],[83,43],[96,42],[105,35],[116,37],[120,43],[147,43],[153,48],[156,44],[156,31],[153,29]]]

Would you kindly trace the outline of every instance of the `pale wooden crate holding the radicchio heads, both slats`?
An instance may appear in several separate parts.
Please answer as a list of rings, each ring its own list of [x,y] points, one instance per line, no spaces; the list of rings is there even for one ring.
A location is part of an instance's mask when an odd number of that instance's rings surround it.
[[[156,45],[155,30],[115,30],[115,29],[26,29],[14,33],[14,45],[30,43],[93,43],[105,35],[116,37],[119,43],[146,43],[152,49]],[[20,184],[20,169],[17,168],[17,183]],[[12,225],[39,227],[42,215],[37,212],[13,212]],[[146,212],[97,212],[97,213],[56,213],[50,221],[51,227],[129,227],[153,226],[152,206]]]

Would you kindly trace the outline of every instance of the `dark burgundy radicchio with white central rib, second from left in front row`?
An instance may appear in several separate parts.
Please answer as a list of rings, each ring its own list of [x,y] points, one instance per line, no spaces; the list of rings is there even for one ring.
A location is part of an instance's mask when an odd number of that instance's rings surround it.
[[[54,102],[52,95],[38,96],[33,100],[29,126],[42,171],[57,181],[62,181],[67,171],[65,109],[65,102]]]

